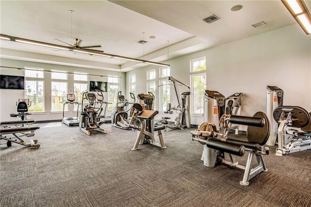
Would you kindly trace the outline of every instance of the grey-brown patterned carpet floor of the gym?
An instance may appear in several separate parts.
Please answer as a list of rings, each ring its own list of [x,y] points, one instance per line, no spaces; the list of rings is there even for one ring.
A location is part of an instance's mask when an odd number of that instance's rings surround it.
[[[241,170],[203,165],[194,128],[163,131],[166,149],[131,151],[137,132],[110,124],[91,136],[60,122],[39,126],[22,137],[38,139],[38,149],[0,146],[1,207],[311,206],[311,150],[276,156],[271,147],[268,171],[241,186]]]

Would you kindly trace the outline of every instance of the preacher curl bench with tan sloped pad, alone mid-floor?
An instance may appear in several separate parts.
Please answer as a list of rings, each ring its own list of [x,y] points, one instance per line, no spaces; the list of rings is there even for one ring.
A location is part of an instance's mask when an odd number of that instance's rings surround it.
[[[133,105],[134,107],[134,105]],[[153,127],[151,125],[151,121],[155,118],[159,112],[155,110],[142,110],[142,108],[138,108],[138,111],[141,111],[137,118],[141,122],[141,127],[139,127],[140,132],[138,133],[137,139],[135,141],[134,147],[132,150],[138,149],[138,144],[143,144],[144,138],[149,138],[149,144],[155,145],[160,147],[161,149],[165,149],[166,146],[164,145],[163,135],[161,130],[165,129],[164,125],[159,125],[151,129]],[[157,136],[159,137],[160,143],[155,142],[155,136],[153,134],[154,131],[157,131]]]

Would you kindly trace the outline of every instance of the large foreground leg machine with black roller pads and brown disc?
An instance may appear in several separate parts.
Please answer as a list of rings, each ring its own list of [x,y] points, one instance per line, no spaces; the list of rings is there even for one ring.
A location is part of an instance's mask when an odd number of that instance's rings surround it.
[[[249,180],[261,172],[266,172],[262,152],[262,146],[267,142],[270,134],[270,123],[263,112],[257,112],[253,117],[231,116],[230,123],[247,125],[247,140],[236,140],[219,134],[216,127],[210,123],[203,123],[200,130],[192,131],[192,140],[199,141],[205,145],[204,162],[208,167],[214,167],[216,163],[225,164],[244,170],[241,185],[249,185]],[[201,125],[202,126],[202,125]],[[247,162],[242,166],[235,160],[233,155],[243,156],[248,152]],[[229,155],[230,161],[225,160],[225,153]],[[256,156],[258,166],[252,168],[253,156]]]

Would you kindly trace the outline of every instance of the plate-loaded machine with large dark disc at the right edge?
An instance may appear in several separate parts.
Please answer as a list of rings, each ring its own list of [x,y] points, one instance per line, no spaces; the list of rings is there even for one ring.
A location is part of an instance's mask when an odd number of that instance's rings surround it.
[[[276,155],[311,149],[311,113],[299,106],[278,106],[273,117],[279,123]]]

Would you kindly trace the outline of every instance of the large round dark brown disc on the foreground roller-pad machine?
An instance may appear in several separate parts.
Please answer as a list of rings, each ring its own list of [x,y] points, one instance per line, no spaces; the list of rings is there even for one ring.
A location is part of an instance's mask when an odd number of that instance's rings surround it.
[[[270,122],[268,117],[263,112],[257,112],[253,117],[262,118],[264,120],[263,127],[248,126],[247,127],[247,139],[251,143],[258,143],[261,146],[264,145],[270,134]]]

